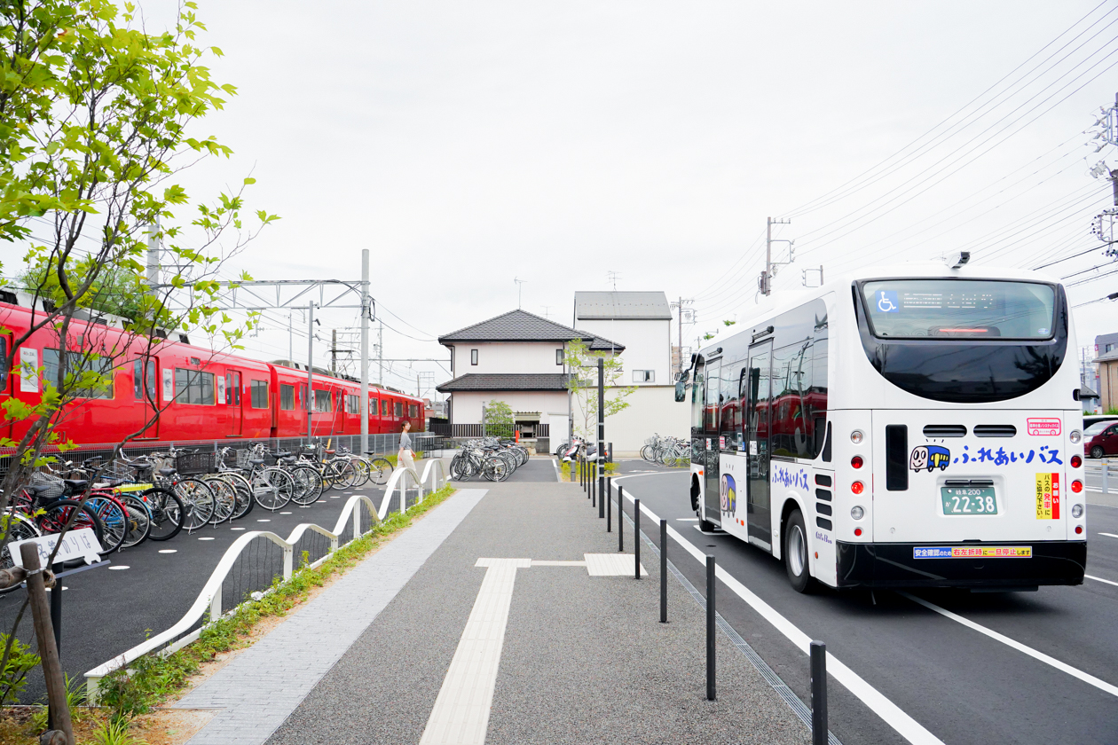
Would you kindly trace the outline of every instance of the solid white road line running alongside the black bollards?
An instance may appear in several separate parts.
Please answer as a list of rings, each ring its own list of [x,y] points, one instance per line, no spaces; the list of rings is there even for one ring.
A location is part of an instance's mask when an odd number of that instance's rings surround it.
[[[619,477],[624,478],[624,477]],[[614,479],[615,481],[618,479]],[[629,489],[625,489],[625,496],[629,502],[633,502],[633,496]],[[641,505],[641,512],[647,515],[653,525],[660,524],[660,516],[654,512],[648,509],[647,506]],[[675,528],[671,525],[667,526],[667,535],[672,537],[673,541],[679,543],[683,548],[691,554],[695,561],[700,564],[707,563],[707,555],[699,551],[690,541],[684,538]],[[806,633],[799,630],[792,621],[783,617],[776,611],[771,605],[766,603],[764,600],[758,598],[751,590],[746,585],[741,584],[732,574],[727,572],[721,566],[716,566],[714,572],[726,586],[733,591],[736,595],[746,601],[750,608],[757,611],[761,618],[771,623],[777,631],[783,633],[787,639],[795,644],[805,655],[809,653],[808,644],[812,639]],[[881,691],[868,684],[862,679],[860,675],[851,670],[843,662],[841,662],[834,655],[827,652],[827,672],[830,672],[835,680],[841,682],[846,689],[858,696],[859,699],[874,714],[884,720],[890,727],[896,729],[904,739],[910,743],[917,743],[923,745],[942,745],[942,741],[932,735],[930,732],[923,728],[923,726],[906,714],[899,706],[893,704],[891,700],[885,698]]]

